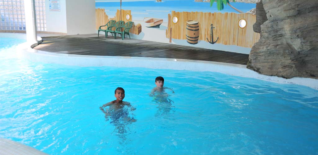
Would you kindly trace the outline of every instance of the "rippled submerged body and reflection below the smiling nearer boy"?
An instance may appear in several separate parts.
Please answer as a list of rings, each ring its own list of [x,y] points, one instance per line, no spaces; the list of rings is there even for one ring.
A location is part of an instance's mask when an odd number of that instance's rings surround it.
[[[125,135],[129,131],[128,124],[137,121],[129,115],[129,111],[134,111],[135,108],[129,102],[122,102],[104,104],[100,107],[100,110],[104,112],[106,122],[110,121],[110,124],[115,126],[114,132],[124,142],[126,140]]]

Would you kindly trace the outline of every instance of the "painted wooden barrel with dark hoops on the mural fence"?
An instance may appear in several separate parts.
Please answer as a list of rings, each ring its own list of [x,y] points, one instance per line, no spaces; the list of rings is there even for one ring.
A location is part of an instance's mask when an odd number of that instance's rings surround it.
[[[186,38],[189,44],[197,44],[199,40],[199,22],[188,20],[186,27]]]

